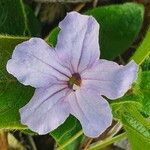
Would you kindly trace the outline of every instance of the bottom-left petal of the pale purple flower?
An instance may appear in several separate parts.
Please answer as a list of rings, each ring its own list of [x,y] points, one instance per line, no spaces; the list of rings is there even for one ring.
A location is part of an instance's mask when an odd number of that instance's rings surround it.
[[[56,129],[69,116],[64,101],[68,92],[64,85],[36,89],[30,102],[20,109],[21,123],[39,134]]]

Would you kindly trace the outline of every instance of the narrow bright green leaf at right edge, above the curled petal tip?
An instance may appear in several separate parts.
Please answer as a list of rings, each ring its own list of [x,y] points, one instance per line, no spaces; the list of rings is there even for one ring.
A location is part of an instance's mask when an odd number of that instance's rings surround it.
[[[137,64],[141,64],[150,55],[150,27],[146,33],[144,40],[139,48],[135,51],[130,60],[134,60]]]

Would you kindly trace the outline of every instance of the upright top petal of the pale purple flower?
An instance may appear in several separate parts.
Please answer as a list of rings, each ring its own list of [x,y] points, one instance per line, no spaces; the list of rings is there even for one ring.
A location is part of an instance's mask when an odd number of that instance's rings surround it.
[[[93,17],[71,12],[59,27],[56,51],[72,72],[79,73],[99,59],[99,24]]]

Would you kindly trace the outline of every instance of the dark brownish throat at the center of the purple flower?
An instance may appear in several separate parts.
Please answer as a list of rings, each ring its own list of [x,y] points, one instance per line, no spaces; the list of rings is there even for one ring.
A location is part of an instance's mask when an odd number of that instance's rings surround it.
[[[68,81],[68,87],[75,91],[80,87],[80,85],[81,85],[81,76],[79,75],[79,73],[72,74],[72,77],[70,77]]]

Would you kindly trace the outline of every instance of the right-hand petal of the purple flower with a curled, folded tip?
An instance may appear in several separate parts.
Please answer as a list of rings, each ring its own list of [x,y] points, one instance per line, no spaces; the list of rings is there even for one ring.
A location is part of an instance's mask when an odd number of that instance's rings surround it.
[[[138,66],[131,61],[126,66],[100,60],[95,67],[82,73],[82,85],[99,91],[110,99],[122,97],[137,78]]]

